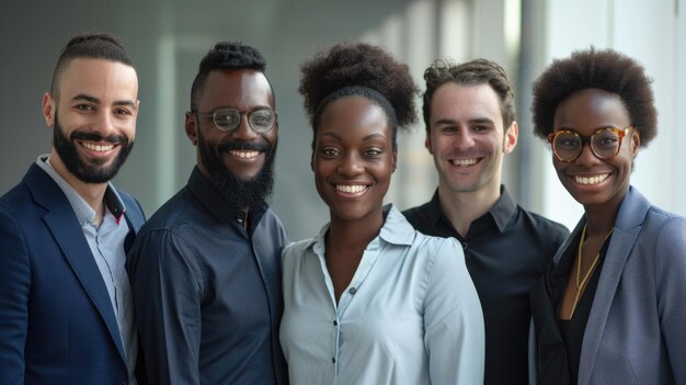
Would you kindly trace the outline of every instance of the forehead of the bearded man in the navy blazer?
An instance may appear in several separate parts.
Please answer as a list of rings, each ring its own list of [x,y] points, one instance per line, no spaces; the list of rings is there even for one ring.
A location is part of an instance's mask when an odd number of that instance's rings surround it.
[[[105,100],[133,100],[138,93],[136,70],[123,63],[105,59],[76,58],[59,78],[59,97],[71,99],[88,94]]]

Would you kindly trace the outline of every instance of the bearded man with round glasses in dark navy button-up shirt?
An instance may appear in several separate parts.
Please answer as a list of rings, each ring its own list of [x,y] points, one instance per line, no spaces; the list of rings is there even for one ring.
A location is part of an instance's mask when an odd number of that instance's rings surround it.
[[[130,253],[150,384],[284,384],[281,249],[267,207],[278,122],[266,61],[218,43],[203,58],[185,132],[187,184],[146,223]]]

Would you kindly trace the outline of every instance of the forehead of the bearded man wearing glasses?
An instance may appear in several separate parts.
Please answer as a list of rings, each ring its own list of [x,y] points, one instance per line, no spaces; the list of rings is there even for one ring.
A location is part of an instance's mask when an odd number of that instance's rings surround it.
[[[274,107],[272,88],[264,73],[249,69],[213,70],[208,73],[199,99],[201,112],[219,106],[241,111]]]

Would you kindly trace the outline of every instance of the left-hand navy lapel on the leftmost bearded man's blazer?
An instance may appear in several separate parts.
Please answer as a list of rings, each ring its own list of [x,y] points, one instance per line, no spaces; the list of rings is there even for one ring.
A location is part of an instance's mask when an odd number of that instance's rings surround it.
[[[102,316],[122,359],[125,359],[119,328],[107,294],[107,287],[102,280],[93,253],[69,201],[55,181],[35,165],[28,170],[24,181],[32,191],[35,202],[47,211],[44,216],[46,226],[83,290]]]

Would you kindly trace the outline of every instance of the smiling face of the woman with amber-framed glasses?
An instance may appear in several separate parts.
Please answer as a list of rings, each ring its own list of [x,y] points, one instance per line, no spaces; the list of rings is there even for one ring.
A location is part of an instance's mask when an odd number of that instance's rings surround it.
[[[624,128],[631,124],[621,98],[599,89],[584,89],[567,97],[556,109],[553,132],[574,131],[591,136],[598,128]],[[562,185],[586,211],[593,207],[615,210],[629,189],[631,163],[638,154],[639,134],[631,129],[621,141],[617,156],[599,159],[584,144],[579,158],[552,165]]]

